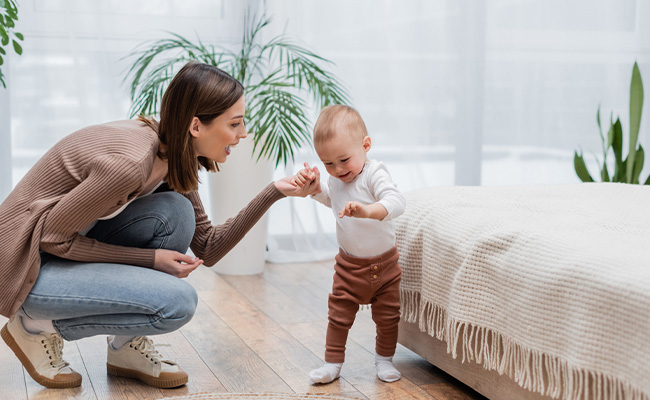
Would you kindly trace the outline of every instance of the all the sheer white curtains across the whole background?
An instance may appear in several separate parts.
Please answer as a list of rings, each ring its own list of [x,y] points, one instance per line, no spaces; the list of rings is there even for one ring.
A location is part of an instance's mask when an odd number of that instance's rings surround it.
[[[598,106],[605,124],[613,112],[628,132],[635,60],[650,93],[648,0],[18,3],[24,53],[2,66],[0,199],[63,136],[127,117],[130,63],[122,57],[136,45],[164,31],[236,45],[248,7],[273,16],[268,36],[284,32],[335,63],[373,139],[370,156],[387,164],[402,191],[578,182],[574,149],[596,170]],[[648,104],[640,142],[650,149]],[[305,148],[276,177],[304,161],[320,165]],[[648,173],[646,166],[642,178]],[[208,204],[207,190],[201,194]],[[330,210],[310,199],[273,206],[270,260],[335,251]]]

